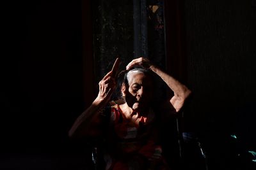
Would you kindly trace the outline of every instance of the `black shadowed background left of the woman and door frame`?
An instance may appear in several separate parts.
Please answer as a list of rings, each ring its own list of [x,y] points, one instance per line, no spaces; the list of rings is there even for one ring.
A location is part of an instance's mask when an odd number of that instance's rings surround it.
[[[78,150],[68,139],[91,81],[83,78],[82,2],[8,1],[2,8],[0,169],[86,166],[88,156],[79,153],[87,146]]]

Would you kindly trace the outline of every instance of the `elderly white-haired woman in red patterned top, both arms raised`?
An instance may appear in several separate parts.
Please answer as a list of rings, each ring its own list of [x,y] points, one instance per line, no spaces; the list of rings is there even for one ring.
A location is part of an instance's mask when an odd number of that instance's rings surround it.
[[[137,66],[140,68],[131,69]],[[157,140],[157,110],[184,105],[191,91],[146,58],[132,60],[126,67],[120,87],[123,103],[109,100],[116,88],[113,71],[99,82],[99,94],[92,105],[76,120],[70,137],[104,136],[106,169],[169,169]],[[163,104],[154,103],[153,74],[159,76],[173,92]],[[152,106],[158,106],[153,109]]]

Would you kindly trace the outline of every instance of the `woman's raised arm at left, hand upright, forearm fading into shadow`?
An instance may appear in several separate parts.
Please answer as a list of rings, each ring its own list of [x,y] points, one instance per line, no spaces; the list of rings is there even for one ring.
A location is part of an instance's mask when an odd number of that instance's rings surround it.
[[[115,90],[116,82],[110,71],[99,82],[99,94],[93,101],[91,106],[87,108],[74,122],[68,136],[71,138],[79,138],[82,136],[97,136],[100,134],[100,124],[102,123],[100,113],[102,108],[108,103],[113,91]]]

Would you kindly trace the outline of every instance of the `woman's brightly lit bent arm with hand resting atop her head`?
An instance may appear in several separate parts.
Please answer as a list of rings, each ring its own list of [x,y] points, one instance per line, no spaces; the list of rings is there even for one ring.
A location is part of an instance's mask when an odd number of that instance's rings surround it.
[[[173,108],[178,112],[184,105],[185,100],[191,94],[191,90],[188,89],[185,85],[180,83],[178,80],[170,76],[169,74],[162,71],[159,67],[154,66],[147,58],[140,57],[138,59],[132,60],[127,66],[126,69],[129,69],[133,66],[143,66],[145,69],[150,69],[156,73],[168,87],[173,91],[174,96],[171,97],[170,103]]]

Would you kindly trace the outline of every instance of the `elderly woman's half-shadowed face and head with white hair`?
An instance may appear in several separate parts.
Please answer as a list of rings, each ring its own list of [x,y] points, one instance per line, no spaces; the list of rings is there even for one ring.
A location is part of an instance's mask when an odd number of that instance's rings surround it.
[[[134,71],[127,75],[127,80],[129,85],[122,88],[125,102],[132,110],[148,110],[153,97],[152,79],[144,73]]]

